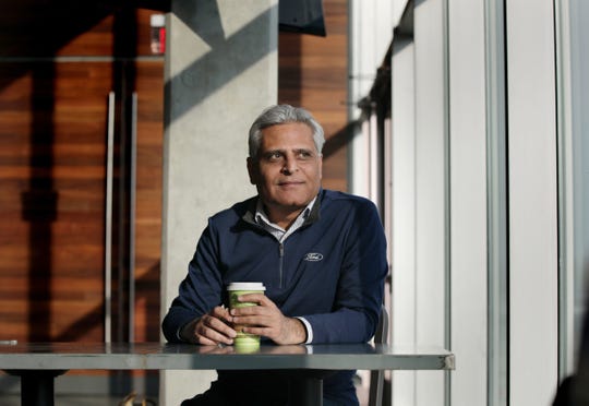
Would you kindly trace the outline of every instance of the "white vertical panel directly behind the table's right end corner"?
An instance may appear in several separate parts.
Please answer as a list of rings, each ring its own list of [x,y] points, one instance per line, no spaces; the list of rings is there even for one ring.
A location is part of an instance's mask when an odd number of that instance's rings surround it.
[[[460,366],[450,380],[456,406],[484,405],[489,379],[484,15],[483,2],[448,3],[449,347]]]

